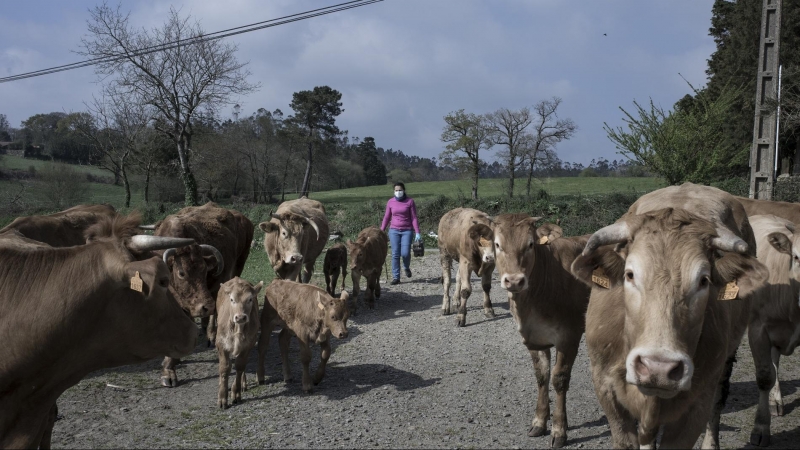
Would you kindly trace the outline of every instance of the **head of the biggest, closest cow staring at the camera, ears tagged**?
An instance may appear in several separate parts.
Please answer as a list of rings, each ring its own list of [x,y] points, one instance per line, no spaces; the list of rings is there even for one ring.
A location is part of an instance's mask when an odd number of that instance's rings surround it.
[[[728,228],[680,209],[629,214],[589,238],[572,273],[624,296],[628,383],[661,398],[691,388],[709,302],[724,301],[728,283],[744,297],[767,279],[747,250]]]

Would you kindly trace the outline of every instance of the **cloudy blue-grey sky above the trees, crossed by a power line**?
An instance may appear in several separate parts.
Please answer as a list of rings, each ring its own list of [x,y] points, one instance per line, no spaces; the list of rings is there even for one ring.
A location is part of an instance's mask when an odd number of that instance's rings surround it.
[[[89,10],[101,0],[7,2],[0,14],[0,76],[82,61]],[[344,0],[122,0],[136,28],[161,26],[170,7],[207,33]],[[109,1],[109,5],[117,3]],[[706,84],[712,0],[384,0],[226,38],[260,89],[241,115],[291,114],[292,93],[328,85],[342,93],[336,119],[349,136],[438,157],[443,117],[562,99],[578,126],[556,151],[588,164],[622,159],[603,124],[650,98],[666,109]],[[0,83],[0,114],[13,127],[47,112],[85,111],[99,91],[91,67]],[[754,93],[755,95],[755,93]],[[232,106],[232,105],[231,105]],[[223,119],[232,107],[222,110]],[[493,152],[484,152],[492,160]]]

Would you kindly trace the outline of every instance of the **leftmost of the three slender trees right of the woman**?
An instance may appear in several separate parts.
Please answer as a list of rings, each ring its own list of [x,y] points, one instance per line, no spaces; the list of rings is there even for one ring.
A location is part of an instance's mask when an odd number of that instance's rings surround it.
[[[489,126],[486,117],[466,113],[463,109],[444,116],[442,142],[447,142],[446,150],[439,159],[472,178],[472,199],[478,199],[478,178],[485,163],[481,161],[480,150],[492,146],[489,140]]]

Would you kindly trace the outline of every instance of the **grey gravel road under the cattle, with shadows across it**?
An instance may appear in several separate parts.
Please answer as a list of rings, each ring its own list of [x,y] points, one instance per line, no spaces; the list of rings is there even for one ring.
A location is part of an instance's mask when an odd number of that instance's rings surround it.
[[[200,338],[195,353],[178,366],[177,388],[160,387],[161,361],[153,360],[93,373],[69,389],[58,401],[53,446],[548,448],[549,435],[527,436],[536,382],[505,291],[495,280],[497,316],[486,319],[480,283],[473,278],[477,292],[469,301],[467,326],[456,328],[454,315],[441,315],[438,253],[428,250],[413,258],[411,269],[413,277],[400,285],[384,279],[376,309],[360,308],[349,322],[349,337],[333,340],[328,372],[310,395],[300,387],[296,340],[290,348],[295,381],[286,384],[278,339],[272,339],[267,384],[256,385],[254,349],[243,403],[219,410],[216,352]],[[321,275],[312,282],[321,286]],[[742,347],[722,417],[725,448],[748,442],[758,397],[747,343]],[[318,353],[317,348],[312,369]],[[798,367],[793,357],[781,362],[785,416],[773,419],[771,448],[800,442]],[[610,446],[583,345],[567,406],[568,447]]]

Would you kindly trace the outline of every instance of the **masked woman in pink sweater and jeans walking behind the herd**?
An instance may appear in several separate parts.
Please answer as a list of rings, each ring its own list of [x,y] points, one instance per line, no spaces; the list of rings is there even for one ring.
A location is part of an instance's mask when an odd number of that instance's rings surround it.
[[[389,243],[392,245],[392,283],[400,283],[400,257],[406,276],[411,278],[411,235],[416,233],[415,240],[420,240],[417,205],[411,197],[406,196],[406,185],[394,184],[394,197],[386,202],[386,214],[383,216],[381,230],[389,226]]]

